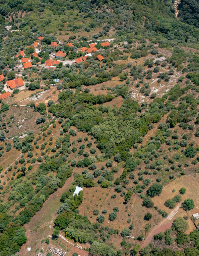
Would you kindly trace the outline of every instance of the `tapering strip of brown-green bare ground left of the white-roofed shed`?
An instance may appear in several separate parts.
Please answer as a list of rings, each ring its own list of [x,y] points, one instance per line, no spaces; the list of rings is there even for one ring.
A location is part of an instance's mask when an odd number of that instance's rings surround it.
[[[53,220],[57,216],[57,210],[60,206],[60,197],[62,193],[70,187],[73,181],[73,176],[68,178],[64,186],[51,194],[48,200],[44,202],[42,208],[31,218],[31,221],[24,225],[28,240],[26,244],[21,247],[18,255],[35,256],[35,250],[37,248],[39,251],[40,249],[44,248],[45,252],[49,245],[46,243],[41,244],[41,240],[46,239],[49,235],[52,235]],[[27,250],[29,247],[31,247],[31,251]]]

